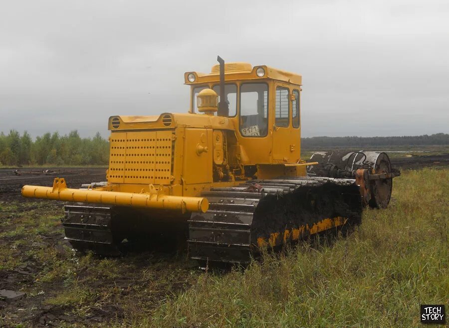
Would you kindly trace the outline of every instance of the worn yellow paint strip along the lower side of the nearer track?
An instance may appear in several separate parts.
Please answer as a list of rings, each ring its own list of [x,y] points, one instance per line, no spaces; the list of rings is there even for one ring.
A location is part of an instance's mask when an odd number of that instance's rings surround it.
[[[293,228],[291,230],[284,230],[283,232],[283,243],[286,243],[288,240],[298,240],[306,235],[315,234],[327,229],[331,229],[333,227],[337,227],[340,225],[345,224],[347,219],[342,217],[335,217],[332,219],[322,219],[321,221],[318,221],[317,223],[313,224],[311,227],[309,227],[308,224],[301,225],[298,228]],[[264,237],[258,237],[257,238],[257,246],[258,247],[266,247],[267,245],[270,245],[271,247],[274,247],[276,245],[280,245],[282,242],[278,239],[279,232],[271,233],[269,238],[266,239]],[[289,237],[291,236],[291,239]]]

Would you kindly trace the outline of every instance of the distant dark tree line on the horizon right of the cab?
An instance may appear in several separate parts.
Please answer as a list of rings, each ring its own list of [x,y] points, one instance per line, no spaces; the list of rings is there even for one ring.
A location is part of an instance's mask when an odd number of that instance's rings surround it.
[[[449,134],[398,136],[398,137],[311,137],[301,138],[301,147],[316,149],[321,147],[370,147],[370,146],[425,146],[449,145]]]

